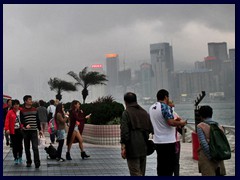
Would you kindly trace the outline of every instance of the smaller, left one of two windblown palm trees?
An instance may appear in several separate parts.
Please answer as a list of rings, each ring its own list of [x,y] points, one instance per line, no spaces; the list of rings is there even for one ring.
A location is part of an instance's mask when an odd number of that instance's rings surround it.
[[[64,80],[61,80],[59,78],[50,78],[50,80],[48,81],[48,85],[50,86],[51,91],[56,91],[57,95],[56,95],[56,99],[58,99],[59,101],[61,101],[62,99],[62,91],[76,91],[77,88],[74,85],[74,83],[71,82],[67,82]]]

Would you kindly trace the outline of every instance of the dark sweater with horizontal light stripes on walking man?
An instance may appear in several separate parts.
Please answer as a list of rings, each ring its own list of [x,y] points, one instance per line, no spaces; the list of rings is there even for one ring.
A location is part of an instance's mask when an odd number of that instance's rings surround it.
[[[34,107],[31,108],[22,108],[21,110],[21,120],[24,127],[24,130],[41,130],[40,121],[38,118],[37,109]],[[26,126],[30,125],[29,129],[26,129]]]

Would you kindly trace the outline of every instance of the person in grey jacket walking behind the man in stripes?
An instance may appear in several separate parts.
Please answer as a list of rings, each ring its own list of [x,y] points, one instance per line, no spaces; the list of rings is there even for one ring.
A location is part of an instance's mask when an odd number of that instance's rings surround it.
[[[39,101],[39,107],[37,108],[37,113],[40,120],[41,131],[43,133],[43,137],[45,138],[45,129],[48,127],[48,122],[47,122],[48,112],[47,112],[47,108],[44,106],[43,100]]]

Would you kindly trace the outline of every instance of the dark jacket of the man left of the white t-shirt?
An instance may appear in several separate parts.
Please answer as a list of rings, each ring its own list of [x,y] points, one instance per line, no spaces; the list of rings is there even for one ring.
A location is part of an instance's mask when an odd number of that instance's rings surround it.
[[[128,105],[121,119],[121,144],[126,146],[127,158],[147,155],[146,141],[153,126],[149,114],[137,103]]]

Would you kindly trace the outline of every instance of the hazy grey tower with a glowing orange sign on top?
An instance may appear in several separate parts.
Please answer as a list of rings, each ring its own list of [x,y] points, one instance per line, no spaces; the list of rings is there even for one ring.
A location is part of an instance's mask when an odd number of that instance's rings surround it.
[[[119,58],[118,54],[106,54],[106,70],[107,70],[107,89],[110,95],[114,96],[116,86],[118,85]],[[115,89],[115,91],[114,91]]]

